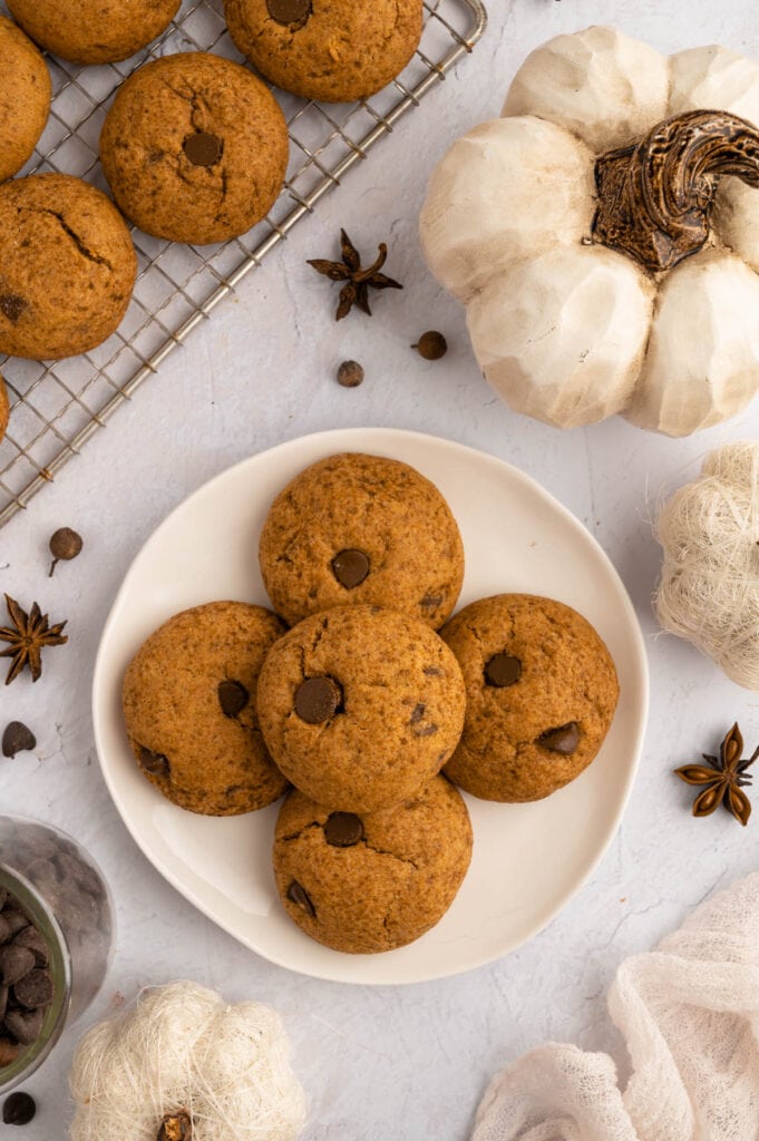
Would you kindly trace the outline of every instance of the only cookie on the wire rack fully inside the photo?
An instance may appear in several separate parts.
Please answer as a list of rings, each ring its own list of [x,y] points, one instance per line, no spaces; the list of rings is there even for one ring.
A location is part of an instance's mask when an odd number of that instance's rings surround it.
[[[288,147],[266,84],[205,51],[134,72],[100,133],[103,170],[127,217],[146,234],[194,245],[244,234],[268,213]]]

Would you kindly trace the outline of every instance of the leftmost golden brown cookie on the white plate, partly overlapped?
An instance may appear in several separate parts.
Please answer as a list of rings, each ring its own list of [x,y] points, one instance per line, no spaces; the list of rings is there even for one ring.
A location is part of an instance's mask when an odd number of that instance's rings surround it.
[[[175,804],[236,816],[288,787],[256,714],[258,672],[283,631],[260,606],[208,602],[169,618],[132,658],[123,683],[129,744]]]

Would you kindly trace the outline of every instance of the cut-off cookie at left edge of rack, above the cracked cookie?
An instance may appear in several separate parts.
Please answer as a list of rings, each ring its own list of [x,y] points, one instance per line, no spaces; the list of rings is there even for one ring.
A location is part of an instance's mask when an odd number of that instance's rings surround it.
[[[29,37],[0,16],[0,181],[17,173],[50,113],[50,73]]]

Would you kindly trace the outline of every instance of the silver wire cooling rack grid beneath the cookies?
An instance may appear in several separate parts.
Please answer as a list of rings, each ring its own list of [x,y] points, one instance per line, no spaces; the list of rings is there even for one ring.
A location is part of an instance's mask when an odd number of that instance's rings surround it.
[[[97,349],[41,364],[0,357],[10,423],[0,442],[0,527],[55,475],[95,430],[207,318],[397,120],[471,51],[485,29],[481,0],[425,0],[419,49],[401,75],[371,99],[320,104],[277,91],[288,120],[291,157],[284,188],[268,218],[223,245],[191,246],[132,228],[138,274],[119,330]],[[8,15],[3,0],[0,13]],[[22,173],[60,171],[107,186],[98,139],[119,83],[139,64],[175,51],[212,50],[241,59],[226,31],[221,0],[183,0],[170,29],[123,64],[80,67],[48,57],[53,110]]]

